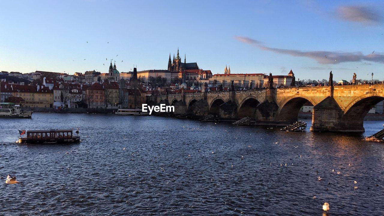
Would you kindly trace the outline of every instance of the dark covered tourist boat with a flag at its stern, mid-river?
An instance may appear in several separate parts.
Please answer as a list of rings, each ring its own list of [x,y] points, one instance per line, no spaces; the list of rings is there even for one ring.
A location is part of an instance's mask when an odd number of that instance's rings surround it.
[[[68,130],[28,130],[20,131],[19,143],[75,143],[80,142],[79,135],[73,135],[72,129]],[[78,131],[76,131],[78,134]]]

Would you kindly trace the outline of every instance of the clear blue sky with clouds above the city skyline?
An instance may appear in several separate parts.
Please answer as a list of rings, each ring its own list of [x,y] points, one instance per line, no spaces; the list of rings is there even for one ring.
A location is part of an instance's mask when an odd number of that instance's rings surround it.
[[[169,53],[223,73],[384,80],[378,1],[4,1],[0,70],[167,69]],[[88,41],[88,43],[87,43]],[[109,42],[109,43],[108,43]],[[374,53],[372,54],[372,52]],[[116,56],[118,55],[118,56]],[[327,56],[327,58],[325,58]],[[86,60],[84,60],[86,59]],[[106,60],[108,59],[108,60]],[[334,61],[336,60],[336,61]],[[122,61],[122,62],[121,62]],[[104,64],[104,65],[103,65]]]

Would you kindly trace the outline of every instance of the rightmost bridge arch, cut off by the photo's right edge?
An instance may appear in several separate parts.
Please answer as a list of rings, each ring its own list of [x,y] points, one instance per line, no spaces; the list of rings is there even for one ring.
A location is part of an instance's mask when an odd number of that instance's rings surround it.
[[[364,117],[372,107],[383,100],[384,96],[379,96],[376,93],[364,94],[357,97],[343,110],[344,115],[341,119],[341,124],[344,127],[363,128]]]

